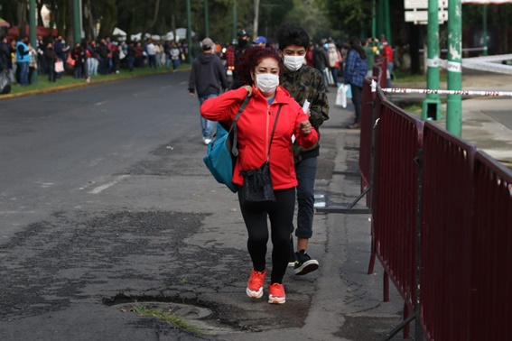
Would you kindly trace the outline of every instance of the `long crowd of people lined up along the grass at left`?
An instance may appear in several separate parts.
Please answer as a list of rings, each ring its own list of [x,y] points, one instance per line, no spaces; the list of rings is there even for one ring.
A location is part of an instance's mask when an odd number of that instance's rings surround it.
[[[179,69],[188,53],[186,44],[174,41],[98,41],[82,40],[70,46],[61,35],[38,36],[36,46],[28,37],[0,37],[0,70],[10,74],[13,82],[26,87],[32,84],[33,72],[55,82],[63,74],[90,81],[91,77],[119,73],[135,68]]]

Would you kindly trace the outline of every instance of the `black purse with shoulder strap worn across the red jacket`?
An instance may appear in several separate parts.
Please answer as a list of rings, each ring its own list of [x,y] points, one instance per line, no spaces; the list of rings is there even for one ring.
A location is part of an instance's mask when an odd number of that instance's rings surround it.
[[[281,105],[282,106],[282,105]],[[281,106],[275,115],[274,128],[270,137],[270,143],[266,148],[266,161],[254,170],[240,171],[244,176],[244,185],[239,193],[240,206],[251,210],[265,210],[274,206],[275,195],[272,176],[270,174],[270,145],[274,139],[275,126],[281,112]],[[268,127],[268,115],[266,116]],[[268,132],[268,131],[267,131]],[[268,134],[267,134],[268,136]]]

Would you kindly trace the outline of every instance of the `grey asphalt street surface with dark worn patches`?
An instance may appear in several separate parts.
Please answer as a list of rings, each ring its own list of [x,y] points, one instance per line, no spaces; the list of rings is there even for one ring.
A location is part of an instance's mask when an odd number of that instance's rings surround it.
[[[187,77],[0,102],[0,339],[385,336],[400,322],[403,303],[393,287],[391,300],[382,301],[378,263],[367,274],[368,214],[317,213],[309,252],[319,271],[300,277],[290,269],[282,306],[247,298],[247,233],[236,196],[202,163],[199,103],[188,97]],[[319,207],[359,194],[358,131],[343,129],[352,107],[333,106],[333,89],[329,97]],[[490,117],[506,140],[505,124],[478,108],[466,112],[475,122]],[[488,128],[483,124],[480,134],[490,134]],[[497,142],[489,151],[500,148]],[[200,334],[141,317],[134,307],[171,311]]]

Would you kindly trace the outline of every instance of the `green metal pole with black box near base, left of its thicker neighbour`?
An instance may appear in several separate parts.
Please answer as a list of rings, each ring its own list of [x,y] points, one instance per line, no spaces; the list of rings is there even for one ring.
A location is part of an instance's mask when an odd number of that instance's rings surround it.
[[[460,1],[460,0],[459,0]],[[428,28],[427,28],[427,88],[439,90],[439,4],[438,0],[428,1]],[[441,101],[439,95],[428,94],[424,99],[422,110],[423,120],[440,120]]]

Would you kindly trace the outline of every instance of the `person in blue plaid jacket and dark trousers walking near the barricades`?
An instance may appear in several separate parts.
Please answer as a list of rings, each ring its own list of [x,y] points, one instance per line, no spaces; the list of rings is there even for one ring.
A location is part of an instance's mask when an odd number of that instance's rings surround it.
[[[363,80],[368,73],[367,55],[363,51],[361,41],[357,37],[349,40],[349,52],[347,53],[347,62],[343,72],[344,83],[350,85],[352,90],[352,103],[356,110],[356,116],[353,124],[347,128],[358,129],[361,127],[361,102],[363,93]]]

